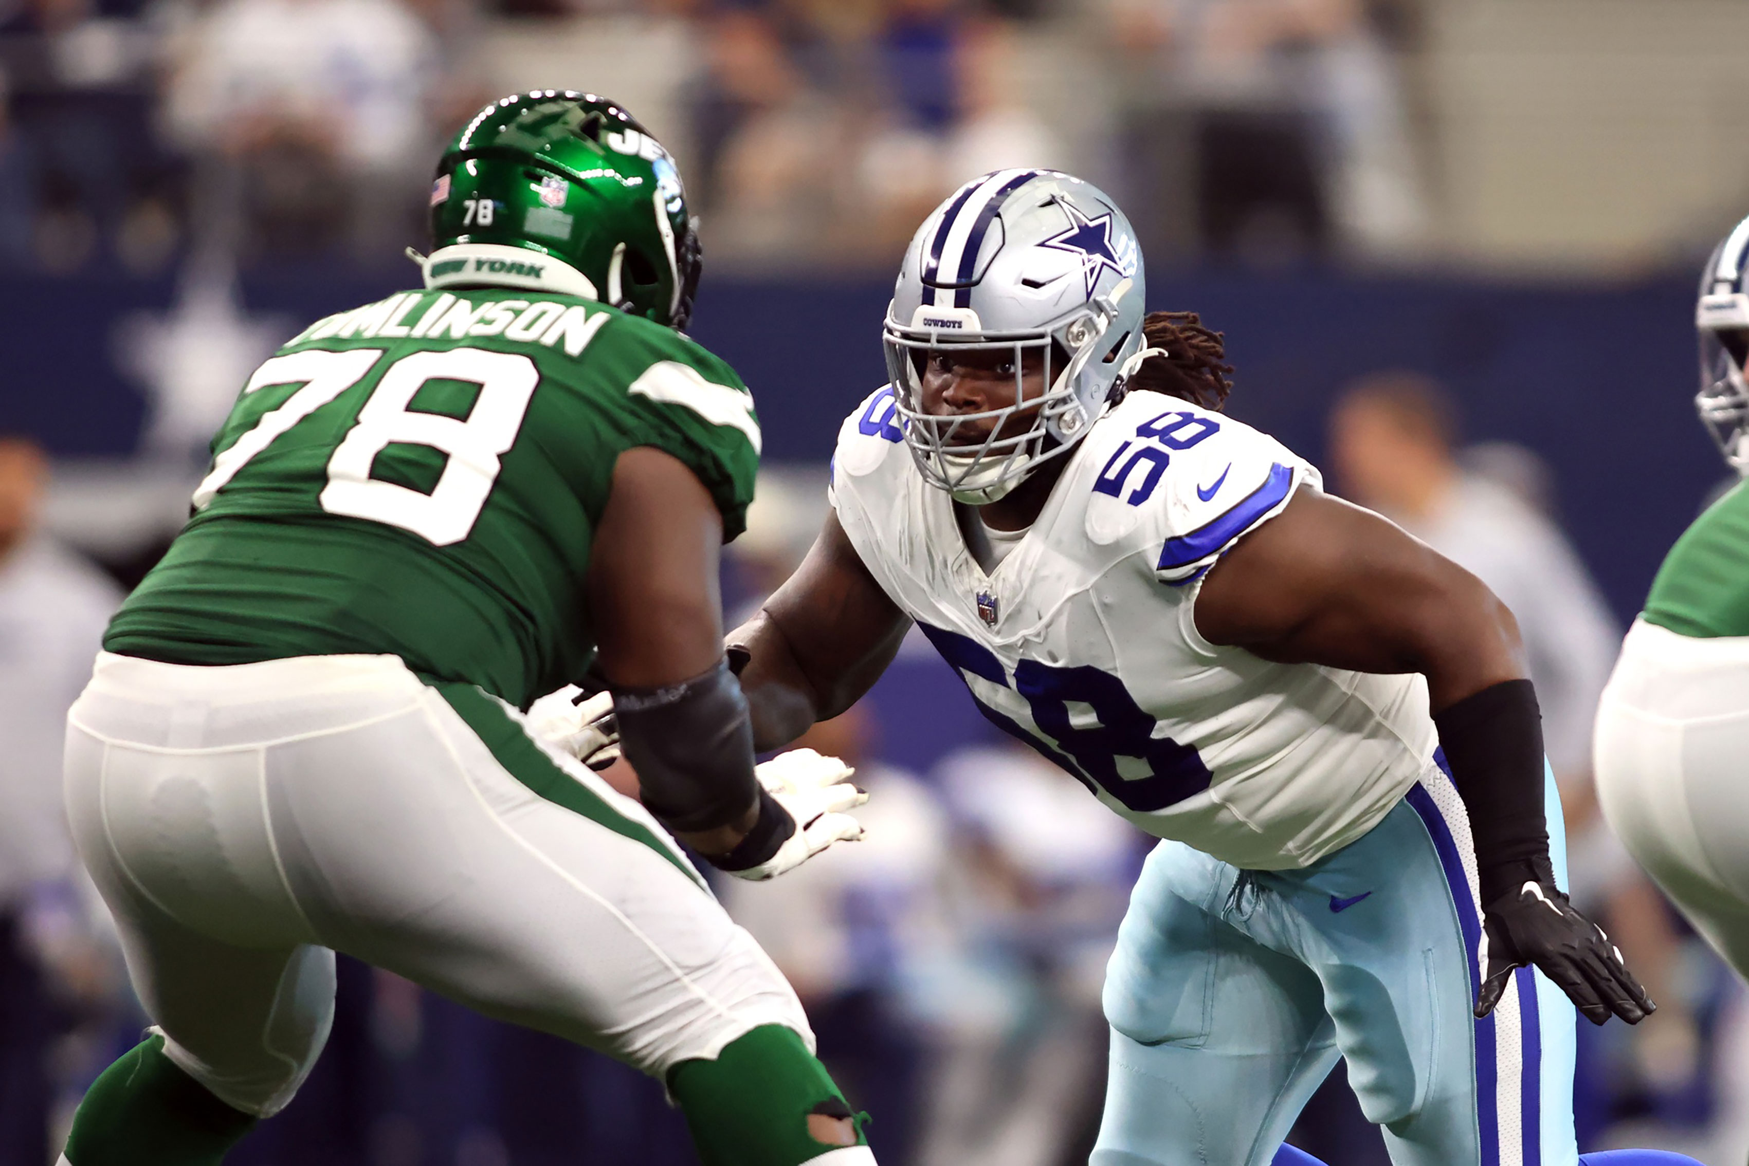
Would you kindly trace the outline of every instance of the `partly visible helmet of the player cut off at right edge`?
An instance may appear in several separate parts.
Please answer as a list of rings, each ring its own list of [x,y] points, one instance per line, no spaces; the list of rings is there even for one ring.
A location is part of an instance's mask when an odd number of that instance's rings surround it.
[[[1749,219],[1737,224],[1700,273],[1695,330],[1700,334],[1700,392],[1695,409],[1739,475],[1749,477]]]

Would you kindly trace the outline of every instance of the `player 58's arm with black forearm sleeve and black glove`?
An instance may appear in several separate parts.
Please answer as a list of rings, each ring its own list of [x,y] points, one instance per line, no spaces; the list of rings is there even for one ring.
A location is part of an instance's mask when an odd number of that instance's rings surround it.
[[[1476,1016],[1525,963],[1597,1024],[1653,1010],[1621,953],[1555,886],[1536,692],[1518,626],[1480,579],[1376,514],[1301,489],[1209,572],[1196,629],[1263,659],[1427,677],[1487,914]]]

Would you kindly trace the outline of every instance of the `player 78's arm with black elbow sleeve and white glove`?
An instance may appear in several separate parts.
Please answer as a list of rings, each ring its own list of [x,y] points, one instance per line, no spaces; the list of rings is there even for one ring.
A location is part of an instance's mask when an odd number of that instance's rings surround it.
[[[862,829],[850,771],[810,750],[754,769],[747,701],[722,657],[722,516],[679,458],[619,455],[595,530],[589,607],[619,743],[644,806],[742,878],[771,878]]]

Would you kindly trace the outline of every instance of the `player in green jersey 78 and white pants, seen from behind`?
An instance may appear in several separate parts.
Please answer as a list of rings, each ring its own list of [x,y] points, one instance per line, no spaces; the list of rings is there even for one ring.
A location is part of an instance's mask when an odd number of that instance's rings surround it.
[[[864,797],[806,750],[756,769],[722,661],[759,425],[679,332],[673,161],[610,101],[504,98],[444,154],[432,229],[422,290],[243,386],[70,713],[68,813],[154,1028],[63,1161],[222,1161],[315,1063],[346,951],[659,1077],[708,1166],[871,1166],[673,841],[770,878]],[[523,717],[591,668],[642,804]]]

